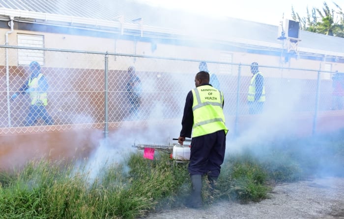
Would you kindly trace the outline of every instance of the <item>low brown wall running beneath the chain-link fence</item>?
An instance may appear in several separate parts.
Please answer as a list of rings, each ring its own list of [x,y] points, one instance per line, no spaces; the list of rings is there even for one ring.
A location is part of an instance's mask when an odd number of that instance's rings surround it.
[[[227,117],[227,124],[229,127],[229,135],[234,134],[233,125],[235,123],[234,117]],[[317,119],[316,133],[330,133],[344,128],[344,111],[326,111],[319,114]],[[162,123],[142,122],[122,124],[110,124],[110,133],[115,133],[119,128],[121,129],[121,136],[126,138],[133,132],[145,132],[149,126],[153,130],[165,130],[170,126],[180,126],[180,120],[174,120]],[[237,135],[244,135],[250,130],[252,123],[257,121],[257,116],[246,115],[238,118]],[[148,124],[149,123],[149,124]],[[294,134],[295,137],[311,136],[313,133],[313,115],[309,113],[295,114],[290,118],[288,126],[260,126],[259,132],[275,133],[276,129],[282,133]],[[26,127],[21,134],[6,134],[8,129],[0,129],[0,170],[13,170],[20,168],[28,161],[33,159],[51,159],[51,160],[65,160],[76,161],[78,159],[89,158],[91,153],[99,146],[99,141],[103,139],[104,135],[100,128],[71,128],[70,130],[56,131],[57,127],[51,126],[51,131],[41,131],[34,133],[39,127]],[[33,132],[33,133],[32,133]],[[162,131],[163,133],[163,131]],[[161,133],[156,133],[157,135]],[[175,133],[177,135],[178,133]],[[283,134],[282,134],[283,135]],[[159,137],[159,136],[157,136]],[[170,137],[170,136],[160,136]],[[178,137],[178,136],[175,136]],[[173,136],[174,138],[174,136]],[[250,136],[247,136],[250,138]],[[119,140],[119,139],[118,139]],[[152,144],[152,142],[143,142]],[[114,139],[113,139],[114,141]],[[116,141],[116,140],[115,140]],[[132,145],[134,142],[132,142]],[[127,145],[131,147],[131,145]]]

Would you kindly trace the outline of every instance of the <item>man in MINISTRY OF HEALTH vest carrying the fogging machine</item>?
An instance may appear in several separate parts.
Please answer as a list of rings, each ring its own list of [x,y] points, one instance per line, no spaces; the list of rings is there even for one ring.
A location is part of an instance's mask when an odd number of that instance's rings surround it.
[[[196,88],[187,96],[178,143],[191,138],[188,171],[192,182],[192,194],[186,205],[202,207],[202,175],[206,174],[214,188],[225,158],[226,135],[223,113],[223,93],[209,84],[209,73],[201,71],[195,77]]]

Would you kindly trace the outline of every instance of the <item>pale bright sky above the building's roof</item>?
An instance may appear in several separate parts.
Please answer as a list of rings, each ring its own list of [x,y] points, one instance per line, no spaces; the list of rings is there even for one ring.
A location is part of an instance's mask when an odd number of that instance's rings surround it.
[[[137,0],[153,6],[208,13],[210,16],[227,16],[264,24],[280,25],[291,20],[291,6],[301,17],[306,17],[307,7],[322,10],[325,0]],[[326,0],[330,9],[336,9],[332,0]],[[344,0],[335,0],[344,9]]]

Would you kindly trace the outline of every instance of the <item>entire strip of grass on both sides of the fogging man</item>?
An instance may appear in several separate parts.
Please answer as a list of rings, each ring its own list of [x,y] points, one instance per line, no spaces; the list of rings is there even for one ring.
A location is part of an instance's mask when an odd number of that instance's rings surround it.
[[[336,136],[256,144],[230,154],[215,192],[203,177],[202,198],[248,202],[269,196],[276,182],[318,174],[344,176],[344,144]],[[276,141],[278,142],[278,141]],[[251,148],[251,149],[250,149]],[[31,161],[23,169],[0,172],[1,219],[135,219],[162,208],[178,207],[191,191],[188,163],[164,152],[154,160],[142,151],[123,163],[106,162],[92,179],[86,166],[66,161]]]

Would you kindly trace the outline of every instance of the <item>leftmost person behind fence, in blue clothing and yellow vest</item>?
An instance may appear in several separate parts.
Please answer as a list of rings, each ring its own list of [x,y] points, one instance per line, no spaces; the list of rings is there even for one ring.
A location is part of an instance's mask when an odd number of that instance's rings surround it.
[[[29,71],[31,72],[29,79],[19,88],[18,92],[12,95],[11,99],[14,100],[20,94],[29,94],[31,103],[25,126],[35,124],[38,118],[42,118],[47,125],[53,125],[53,118],[48,114],[45,108],[48,105],[47,91],[49,85],[44,75],[41,73],[41,66],[38,62],[32,61],[29,64]]]

